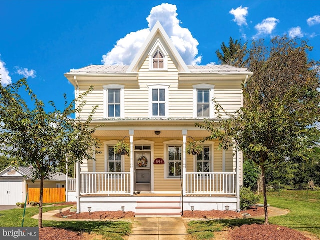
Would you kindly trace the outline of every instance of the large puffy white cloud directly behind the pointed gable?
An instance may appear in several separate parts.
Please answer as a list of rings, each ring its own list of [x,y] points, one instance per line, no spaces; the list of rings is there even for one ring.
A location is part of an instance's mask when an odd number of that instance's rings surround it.
[[[176,10],[175,5],[168,3],[153,7],[146,18],[149,28],[131,32],[118,40],[113,49],[102,56],[102,63],[104,65],[129,65],[156,21],[161,23],[186,64],[195,65],[200,63],[202,57],[197,56],[199,43],[193,38],[189,29],[180,26]]]

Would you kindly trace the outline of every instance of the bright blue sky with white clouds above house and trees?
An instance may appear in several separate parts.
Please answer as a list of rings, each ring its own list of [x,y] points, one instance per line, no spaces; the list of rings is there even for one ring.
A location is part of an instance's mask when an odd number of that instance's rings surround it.
[[[166,3],[166,4],[164,4]],[[74,88],[63,76],[90,64],[129,64],[156,20],[187,64],[218,63],[229,37],[287,34],[320,60],[317,0],[0,0],[1,84],[22,77],[45,104],[63,108]]]

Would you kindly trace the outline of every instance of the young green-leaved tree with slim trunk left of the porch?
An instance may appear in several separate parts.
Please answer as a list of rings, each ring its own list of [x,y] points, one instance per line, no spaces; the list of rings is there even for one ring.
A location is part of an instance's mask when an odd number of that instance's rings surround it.
[[[24,88],[29,94],[34,106],[30,108],[19,94]],[[14,157],[15,166],[32,167],[32,180],[40,179],[39,195],[39,228],[42,227],[43,181],[67,163],[94,160],[92,153],[99,153],[98,142],[93,138],[95,128],[89,124],[96,107],[86,121],[72,119],[71,116],[81,111],[85,104],[83,97],[88,91],[67,103],[63,111],[50,105],[52,112],[45,111],[44,103],[39,100],[28,87],[26,79],[21,79],[6,87],[0,86],[0,121],[1,152]],[[74,108],[74,104],[78,107]]]

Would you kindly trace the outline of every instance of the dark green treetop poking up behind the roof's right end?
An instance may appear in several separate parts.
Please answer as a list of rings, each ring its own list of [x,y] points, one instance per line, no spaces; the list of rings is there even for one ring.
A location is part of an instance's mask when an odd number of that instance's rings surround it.
[[[215,54],[219,59],[220,64],[227,64],[236,67],[245,67],[247,64],[247,42],[243,45],[239,40],[233,40],[230,37],[229,46],[226,46],[224,42],[221,44],[221,51],[216,50]]]

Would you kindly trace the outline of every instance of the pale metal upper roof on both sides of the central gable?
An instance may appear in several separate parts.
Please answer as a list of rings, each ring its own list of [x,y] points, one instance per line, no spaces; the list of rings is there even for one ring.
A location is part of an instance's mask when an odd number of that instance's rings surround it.
[[[230,65],[188,65],[187,67],[191,73],[252,73],[248,71],[247,68],[239,68]],[[127,73],[126,71],[128,68],[128,65],[89,65],[79,69],[71,69],[68,73]]]

